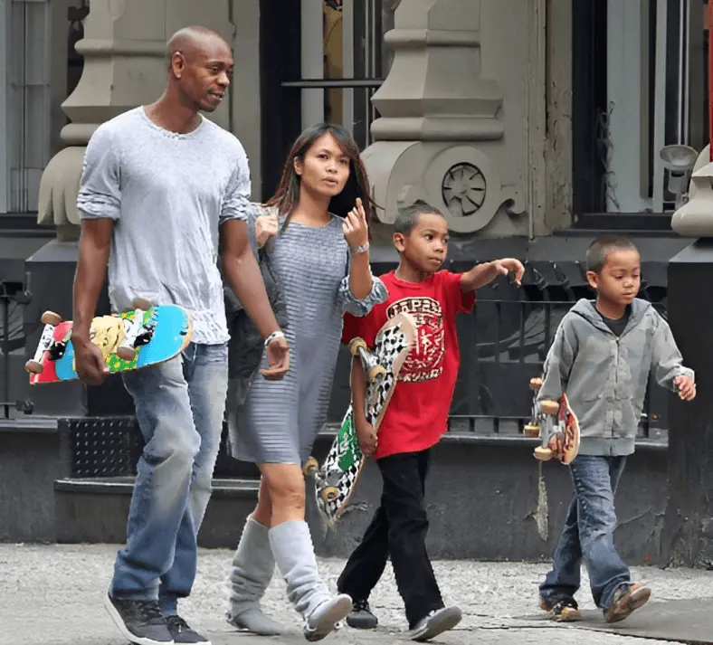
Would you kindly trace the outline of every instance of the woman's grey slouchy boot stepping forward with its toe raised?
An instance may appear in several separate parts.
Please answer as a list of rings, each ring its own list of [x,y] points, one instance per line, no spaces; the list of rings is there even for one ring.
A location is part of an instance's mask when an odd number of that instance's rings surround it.
[[[307,522],[292,520],[273,526],[270,544],[287,583],[287,597],[304,620],[305,638],[322,640],[351,612],[352,599],[346,593],[332,597],[319,577]]]

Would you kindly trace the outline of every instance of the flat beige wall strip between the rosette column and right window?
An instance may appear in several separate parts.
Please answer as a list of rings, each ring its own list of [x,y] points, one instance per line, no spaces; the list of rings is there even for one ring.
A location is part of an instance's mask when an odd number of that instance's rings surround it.
[[[528,195],[528,234],[547,235],[572,218],[571,3],[487,0],[481,12],[482,76],[503,93],[497,163]]]

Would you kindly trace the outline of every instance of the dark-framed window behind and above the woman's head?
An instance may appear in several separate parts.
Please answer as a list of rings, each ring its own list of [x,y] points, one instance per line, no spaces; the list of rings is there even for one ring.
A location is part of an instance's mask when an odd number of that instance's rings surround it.
[[[262,194],[299,132],[323,120],[371,143],[384,76],[382,0],[261,2]]]

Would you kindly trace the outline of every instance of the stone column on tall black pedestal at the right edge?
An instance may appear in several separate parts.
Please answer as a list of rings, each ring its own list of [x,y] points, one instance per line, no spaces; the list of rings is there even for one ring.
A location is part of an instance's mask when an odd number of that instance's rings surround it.
[[[683,237],[699,238],[671,258],[668,314],[683,362],[696,372],[698,397],[669,403],[669,497],[661,533],[662,565],[713,563],[713,163],[700,153],[689,202],[671,218]]]

